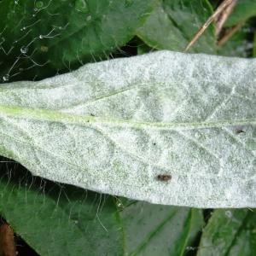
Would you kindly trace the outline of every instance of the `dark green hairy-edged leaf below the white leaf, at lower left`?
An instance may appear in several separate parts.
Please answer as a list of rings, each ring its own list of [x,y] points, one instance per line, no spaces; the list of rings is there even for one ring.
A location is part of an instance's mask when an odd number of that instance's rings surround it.
[[[113,199],[18,171],[1,166],[0,213],[40,256],[123,255]]]

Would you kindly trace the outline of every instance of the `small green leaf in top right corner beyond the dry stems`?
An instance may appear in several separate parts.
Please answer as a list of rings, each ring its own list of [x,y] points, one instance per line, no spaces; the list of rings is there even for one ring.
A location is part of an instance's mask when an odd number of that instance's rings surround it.
[[[225,26],[234,26],[256,16],[255,0],[238,0]]]

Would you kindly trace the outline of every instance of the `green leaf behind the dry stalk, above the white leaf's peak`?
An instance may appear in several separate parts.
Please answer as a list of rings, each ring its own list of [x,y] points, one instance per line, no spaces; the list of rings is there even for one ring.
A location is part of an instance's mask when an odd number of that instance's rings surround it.
[[[156,49],[183,51],[210,15],[212,7],[207,0],[160,0],[137,35]],[[191,50],[215,53],[212,26]]]

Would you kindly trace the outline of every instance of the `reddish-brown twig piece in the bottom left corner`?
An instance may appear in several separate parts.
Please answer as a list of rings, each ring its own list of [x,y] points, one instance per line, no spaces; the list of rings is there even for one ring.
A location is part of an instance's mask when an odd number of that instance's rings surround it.
[[[15,256],[15,236],[14,230],[9,224],[0,226],[0,256]]]

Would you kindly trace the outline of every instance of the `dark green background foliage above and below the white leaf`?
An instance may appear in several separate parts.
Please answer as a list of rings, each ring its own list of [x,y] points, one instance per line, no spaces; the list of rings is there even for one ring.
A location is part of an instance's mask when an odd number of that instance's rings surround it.
[[[0,1],[0,79],[44,79],[90,61],[183,51],[219,1]],[[253,57],[256,5],[238,0],[222,46],[214,26],[190,49]],[[61,166],[60,166],[61,167]],[[253,255],[253,209],[151,205],[51,183],[1,159],[0,213],[37,255]],[[18,247],[22,252],[24,248]]]

